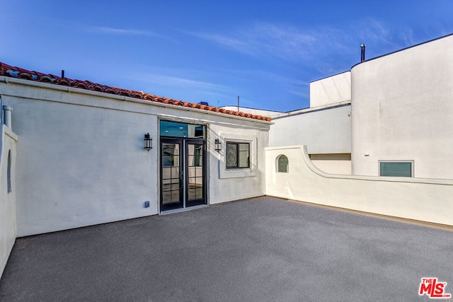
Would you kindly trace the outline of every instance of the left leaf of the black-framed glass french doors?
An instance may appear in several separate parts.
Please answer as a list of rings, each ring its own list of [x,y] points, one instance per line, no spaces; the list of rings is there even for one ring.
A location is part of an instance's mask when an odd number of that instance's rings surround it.
[[[182,141],[161,141],[161,210],[183,207]]]

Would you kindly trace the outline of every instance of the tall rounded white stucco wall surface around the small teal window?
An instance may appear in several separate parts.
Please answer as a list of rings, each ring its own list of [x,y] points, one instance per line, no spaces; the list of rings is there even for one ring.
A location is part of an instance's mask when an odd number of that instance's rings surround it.
[[[453,35],[357,64],[352,174],[414,161],[416,178],[453,179]]]

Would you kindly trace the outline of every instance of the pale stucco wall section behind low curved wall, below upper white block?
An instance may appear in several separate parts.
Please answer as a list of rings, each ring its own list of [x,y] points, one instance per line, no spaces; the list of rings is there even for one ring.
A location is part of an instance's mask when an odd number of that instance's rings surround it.
[[[303,144],[310,154],[350,153],[350,104],[291,112],[273,118],[269,146]]]

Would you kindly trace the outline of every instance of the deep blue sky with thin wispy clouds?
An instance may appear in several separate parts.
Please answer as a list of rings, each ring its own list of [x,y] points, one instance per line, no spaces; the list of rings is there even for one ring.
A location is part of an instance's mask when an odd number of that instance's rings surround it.
[[[276,111],[309,83],[453,33],[451,0],[1,0],[0,62],[166,98]],[[453,51],[453,50],[446,50]]]

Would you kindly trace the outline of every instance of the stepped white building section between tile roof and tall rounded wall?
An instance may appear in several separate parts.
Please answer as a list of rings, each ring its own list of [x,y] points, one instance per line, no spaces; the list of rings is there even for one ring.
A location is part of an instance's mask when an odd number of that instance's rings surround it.
[[[310,83],[310,108],[273,116],[269,146],[306,145],[311,161],[332,174],[351,174],[350,71]]]

